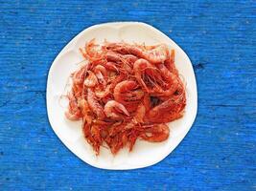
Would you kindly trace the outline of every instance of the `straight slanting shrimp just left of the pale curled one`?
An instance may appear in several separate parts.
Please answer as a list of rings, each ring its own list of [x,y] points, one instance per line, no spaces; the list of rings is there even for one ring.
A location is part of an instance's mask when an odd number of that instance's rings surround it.
[[[105,112],[103,106],[98,102],[94,92],[88,88],[87,90],[87,102],[94,114],[100,119],[105,118]]]

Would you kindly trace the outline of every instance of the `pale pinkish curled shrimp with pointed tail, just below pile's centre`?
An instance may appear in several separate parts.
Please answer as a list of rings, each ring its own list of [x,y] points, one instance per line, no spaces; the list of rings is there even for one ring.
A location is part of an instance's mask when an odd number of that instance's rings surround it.
[[[115,100],[107,101],[104,112],[106,117],[114,120],[122,120],[124,117],[129,117],[126,107]]]

